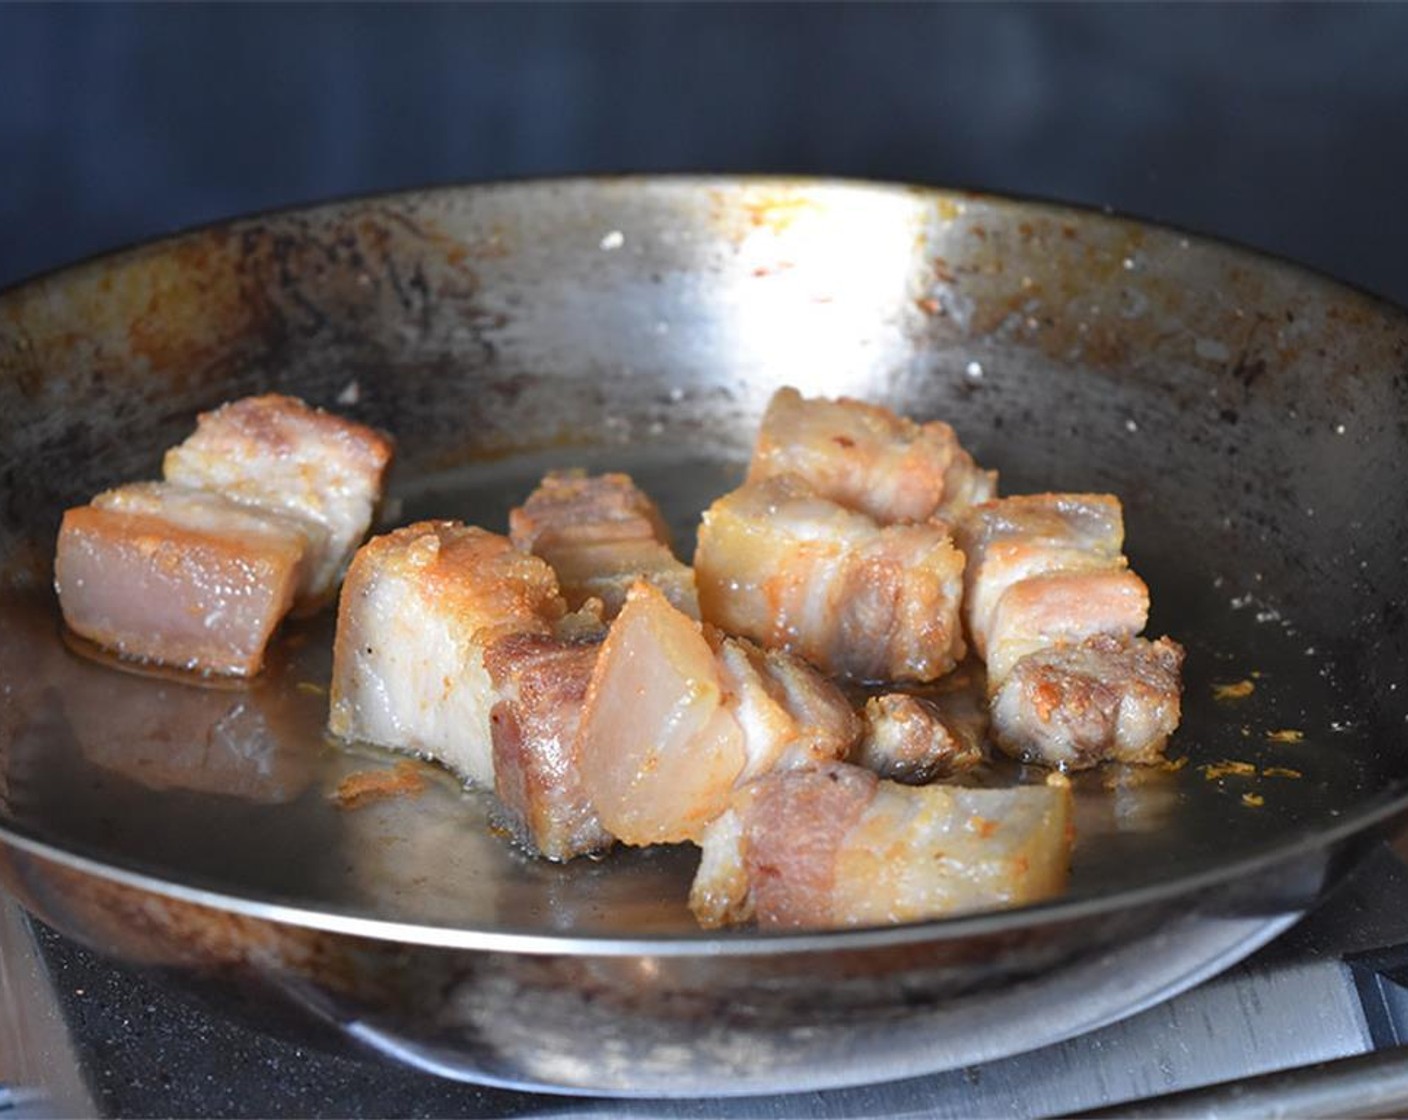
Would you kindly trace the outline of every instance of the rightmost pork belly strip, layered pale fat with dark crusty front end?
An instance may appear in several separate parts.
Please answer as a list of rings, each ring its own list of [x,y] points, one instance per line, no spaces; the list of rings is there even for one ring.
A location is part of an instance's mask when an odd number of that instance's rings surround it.
[[[957,537],[997,744],[1063,768],[1155,761],[1178,723],[1183,651],[1135,638],[1149,589],[1121,552],[1118,499],[998,499],[973,507]]]

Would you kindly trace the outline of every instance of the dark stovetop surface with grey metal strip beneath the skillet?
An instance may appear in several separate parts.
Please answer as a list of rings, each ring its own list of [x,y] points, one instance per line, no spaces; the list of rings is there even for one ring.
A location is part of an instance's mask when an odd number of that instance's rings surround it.
[[[52,930],[28,930],[32,975],[6,945],[0,988],[25,1044],[11,1054],[27,1047],[45,1069],[39,1095],[11,1096],[30,1116],[1055,1116],[1373,1051],[1391,1057],[1408,1021],[1395,979],[1408,962],[1408,865],[1387,845],[1252,959],[1122,1023],[981,1066],[787,1096],[603,1100],[441,1081],[263,1034]],[[3,1072],[21,1088],[23,1071]]]

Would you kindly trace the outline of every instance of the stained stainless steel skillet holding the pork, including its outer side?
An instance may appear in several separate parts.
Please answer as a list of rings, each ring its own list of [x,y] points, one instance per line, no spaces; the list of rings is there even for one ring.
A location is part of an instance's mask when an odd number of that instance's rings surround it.
[[[1067,897],[705,935],[687,851],[535,865],[429,768],[418,797],[339,807],[390,762],[321,735],[327,620],[246,689],[59,634],[62,509],[155,475],[221,400],[279,387],[394,433],[396,520],[501,525],[580,462],[634,472],[687,547],[781,383],[948,418],[1008,492],[1124,497],[1152,630],[1188,647],[1187,762],[1080,779]],[[0,873],[124,959],[451,1076],[696,1096],[1035,1047],[1249,952],[1408,803],[1405,475],[1402,313],[1105,216],[560,180],[141,247],[0,296]]]

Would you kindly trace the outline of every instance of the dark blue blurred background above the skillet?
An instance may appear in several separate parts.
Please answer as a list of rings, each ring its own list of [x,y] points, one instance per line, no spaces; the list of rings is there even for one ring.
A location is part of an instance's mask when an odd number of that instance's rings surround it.
[[[1408,303],[1408,6],[0,4],[0,283],[260,207],[679,169],[1111,206]]]

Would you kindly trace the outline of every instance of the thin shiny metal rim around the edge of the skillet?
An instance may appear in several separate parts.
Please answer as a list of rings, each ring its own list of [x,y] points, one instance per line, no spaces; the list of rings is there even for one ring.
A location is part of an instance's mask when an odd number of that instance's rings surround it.
[[[404,203],[417,197],[442,197],[456,194],[480,194],[511,192],[515,189],[572,190],[576,187],[645,186],[645,187],[758,187],[791,190],[856,190],[867,194],[912,196],[918,199],[949,197],[964,203],[993,206],[995,209],[1039,210],[1052,217],[1067,216],[1084,223],[1132,224],[1146,230],[1173,234],[1191,244],[1259,261],[1264,265],[1297,273],[1318,285],[1352,293],[1388,318],[1400,320],[1408,327],[1408,307],[1367,287],[1343,280],[1324,269],[1318,269],[1281,254],[1255,248],[1231,238],[1201,232],[1188,227],[1162,220],[1140,217],[1132,211],[1115,210],[1108,206],[1088,206],[1019,193],[997,193],[962,186],[939,186],[904,180],[880,180],[852,176],[787,175],[776,172],[728,173],[728,172],[625,172],[591,175],[543,175],[513,176],[501,179],[451,180],[424,186],[398,187],[369,193],[346,193],[315,200],[291,203],[246,211],[211,221],[177,227],[159,237],[137,239],[113,248],[87,254],[75,261],[21,278],[0,287],[0,306],[21,299],[27,289],[38,289],[65,278],[76,276],[90,269],[113,263],[138,254],[161,254],[182,241],[244,224],[307,216],[317,211],[337,210],[349,206],[376,203]],[[1378,790],[1374,796],[1336,817],[1331,827],[1312,828],[1307,833],[1271,841],[1252,850],[1247,855],[1215,868],[1197,871],[1149,883],[1138,888],[1097,893],[1090,896],[1062,896],[1049,902],[1005,910],[991,910],[974,914],[934,919],[901,926],[879,926],[842,930],[818,930],[808,933],[774,933],[749,930],[738,934],[711,934],[705,931],[680,934],[655,934],[645,937],[620,937],[614,934],[551,934],[514,930],[482,930],[460,926],[400,921],[360,916],[337,909],[315,909],[276,899],[249,897],[230,890],[177,882],[158,873],[142,871],[130,864],[110,864],[94,855],[86,855],[75,848],[30,835],[13,823],[0,821],[0,845],[10,847],[39,859],[45,859],[70,871],[77,871],[99,879],[128,886],[146,893],[217,911],[253,917],[293,927],[318,930],[331,934],[362,937],[373,941],[415,944],[448,950],[474,950],[494,952],[517,952],[529,955],[586,955],[586,957],[753,957],[793,952],[832,952],[841,950],[890,948],[941,941],[959,941],[995,934],[1008,934],[1039,928],[1046,924],[1088,920],[1101,914],[1122,911],[1139,906],[1156,904],[1180,896],[1194,896],[1217,888],[1231,886],[1238,879],[1250,879],[1259,872],[1270,872],[1278,865],[1316,854],[1328,858],[1332,848],[1367,834],[1393,817],[1408,813],[1408,776],[1395,786]],[[1286,907],[1283,907],[1286,909]]]

